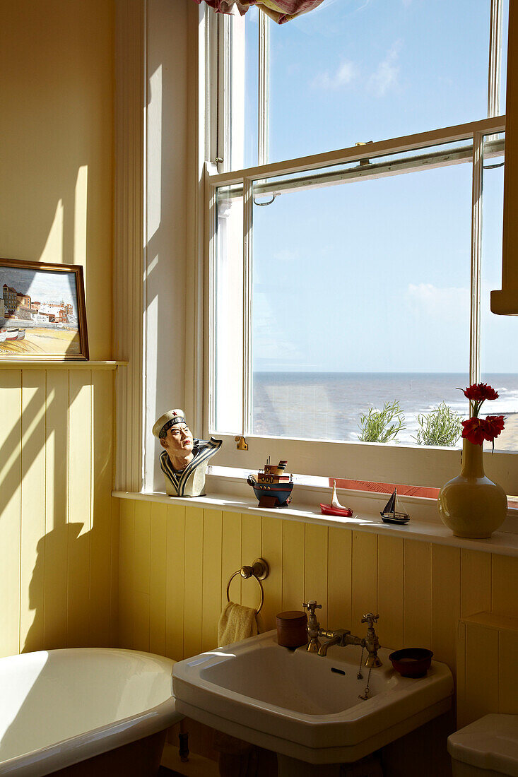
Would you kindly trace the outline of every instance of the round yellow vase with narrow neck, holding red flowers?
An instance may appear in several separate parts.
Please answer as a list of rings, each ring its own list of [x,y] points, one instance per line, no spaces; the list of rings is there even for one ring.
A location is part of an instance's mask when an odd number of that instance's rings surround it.
[[[484,474],[482,445],[462,442],[462,470],[440,490],[439,514],[456,537],[485,539],[504,522],[507,497]]]

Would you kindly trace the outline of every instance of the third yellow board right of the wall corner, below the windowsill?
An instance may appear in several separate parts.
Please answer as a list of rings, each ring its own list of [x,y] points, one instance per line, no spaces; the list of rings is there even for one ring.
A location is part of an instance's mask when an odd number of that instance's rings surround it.
[[[167,505],[153,503],[149,570],[149,650],[166,654]]]

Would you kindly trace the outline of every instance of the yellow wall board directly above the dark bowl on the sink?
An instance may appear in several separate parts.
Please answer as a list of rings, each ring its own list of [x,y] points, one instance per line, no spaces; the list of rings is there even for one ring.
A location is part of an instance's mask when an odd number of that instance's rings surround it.
[[[404,540],[404,646],[432,649],[432,547]]]

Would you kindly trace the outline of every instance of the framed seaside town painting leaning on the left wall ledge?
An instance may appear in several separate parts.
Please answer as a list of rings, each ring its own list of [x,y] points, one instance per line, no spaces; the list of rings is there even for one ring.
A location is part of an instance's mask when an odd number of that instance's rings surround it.
[[[0,259],[0,361],[88,357],[82,267]]]

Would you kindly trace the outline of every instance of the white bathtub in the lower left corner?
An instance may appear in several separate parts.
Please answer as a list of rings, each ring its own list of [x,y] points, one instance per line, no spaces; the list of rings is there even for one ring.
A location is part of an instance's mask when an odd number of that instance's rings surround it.
[[[0,775],[154,774],[182,718],[173,663],[111,648],[0,659]]]

